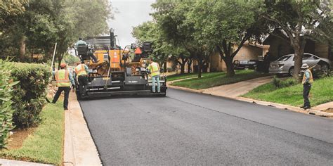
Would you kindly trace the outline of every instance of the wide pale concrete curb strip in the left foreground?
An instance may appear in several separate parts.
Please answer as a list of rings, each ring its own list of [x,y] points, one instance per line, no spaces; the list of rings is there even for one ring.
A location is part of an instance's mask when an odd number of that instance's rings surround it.
[[[65,112],[64,165],[102,165],[75,93]]]

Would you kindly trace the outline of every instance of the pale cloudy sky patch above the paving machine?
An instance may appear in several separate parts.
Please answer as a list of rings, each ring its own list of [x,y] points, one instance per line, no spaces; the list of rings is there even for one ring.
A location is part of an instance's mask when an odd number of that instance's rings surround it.
[[[155,0],[110,0],[113,8],[114,19],[109,21],[109,27],[115,30],[122,47],[131,45],[136,39],[131,35],[132,27],[152,20],[151,4]],[[118,44],[118,41],[117,41]]]

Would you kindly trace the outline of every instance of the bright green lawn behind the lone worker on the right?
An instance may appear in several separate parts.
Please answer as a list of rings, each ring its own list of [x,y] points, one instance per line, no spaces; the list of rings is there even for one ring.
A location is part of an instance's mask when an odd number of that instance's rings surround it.
[[[317,79],[311,87],[311,106],[317,106],[322,103],[333,101],[333,77]],[[254,98],[261,101],[270,101],[274,103],[282,103],[290,106],[303,106],[303,87],[301,84],[292,87],[276,89],[272,83],[263,84],[244,97]]]

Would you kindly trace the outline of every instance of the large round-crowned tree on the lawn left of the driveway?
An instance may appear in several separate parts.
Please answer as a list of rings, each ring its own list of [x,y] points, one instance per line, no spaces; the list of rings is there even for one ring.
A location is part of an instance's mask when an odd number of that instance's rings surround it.
[[[233,58],[244,42],[259,39],[264,30],[256,17],[260,8],[261,3],[253,1],[197,1],[189,14],[188,19],[195,23],[195,38],[218,51],[228,77],[235,75]]]

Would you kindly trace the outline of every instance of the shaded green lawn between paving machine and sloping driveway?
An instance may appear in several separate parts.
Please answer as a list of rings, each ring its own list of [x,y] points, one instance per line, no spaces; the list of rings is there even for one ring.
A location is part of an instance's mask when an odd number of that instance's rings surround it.
[[[206,89],[268,75],[256,72],[254,70],[237,70],[234,77],[226,77],[226,72],[210,72],[205,74],[207,75],[204,75],[204,77],[201,78],[196,77],[192,79],[185,79],[183,81],[174,82],[171,85],[190,89]]]

